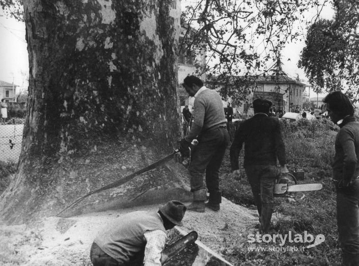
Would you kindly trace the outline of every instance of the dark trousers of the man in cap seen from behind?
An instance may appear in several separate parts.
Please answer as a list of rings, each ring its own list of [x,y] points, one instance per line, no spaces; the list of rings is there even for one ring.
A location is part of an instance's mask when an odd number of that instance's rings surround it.
[[[244,167],[257,205],[262,233],[269,231],[274,205],[275,165],[247,165]]]

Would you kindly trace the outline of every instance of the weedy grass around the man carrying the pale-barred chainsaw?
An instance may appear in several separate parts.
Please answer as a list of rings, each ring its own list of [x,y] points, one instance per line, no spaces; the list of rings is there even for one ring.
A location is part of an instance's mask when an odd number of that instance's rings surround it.
[[[304,231],[316,236],[323,234],[325,241],[320,245],[290,251],[249,251],[250,245],[231,247],[225,257],[235,265],[339,265],[341,252],[338,246],[336,224],[335,192],[330,181],[334,156],[335,135],[339,128],[330,121],[302,120],[298,123],[282,122],[286,144],[287,167],[290,172],[296,168],[305,170],[305,180],[298,183],[321,183],[323,189],[317,192],[297,192],[295,201],[275,198],[273,216],[282,214],[284,218],[272,219],[273,233],[304,235]],[[222,183],[224,196],[235,203],[256,209],[251,187],[247,182],[244,169],[242,179],[231,178],[229,154],[226,154],[222,166]],[[280,216],[280,217],[283,217]],[[294,239],[294,237],[293,237]],[[290,247],[305,247],[308,244],[288,243]],[[256,247],[276,247],[279,244],[256,244]]]

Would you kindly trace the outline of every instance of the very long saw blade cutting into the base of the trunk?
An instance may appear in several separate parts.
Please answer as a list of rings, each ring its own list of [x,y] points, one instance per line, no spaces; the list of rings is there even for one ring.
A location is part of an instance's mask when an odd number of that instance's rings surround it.
[[[84,198],[86,198],[86,197],[88,197],[88,196],[90,196],[90,195],[93,195],[93,194],[95,194],[95,193],[98,193],[98,192],[101,192],[101,191],[104,191],[104,190],[107,190],[107,189],[116,188],[116,187],[118,187],[118,186],[121,186],[121,185],[125,184],[126,182],[130,181],[131,179],[135,178],[137,175],[140,175],[140,174],[142,174],[142,173],[144,173],[144,172],[147,172],[147,171],[149,171],[149,170],[152,170],[152,169],[158,167],[159,165],[162,165],[162,164],[164,164],[164,163],[170,161],[176,153],[178,153],[178,150],[175,150],[172,154],[170,154],[170,155],[168,155],[168,156],[166,156],[166,157],[164,157],[164,158],[158,160],[157,162],[154,162],[153,164],[150,164],[150,165],[148,165],[148,166],[146,166],[146,167],[144,167],[144,168],[142,168],[142,169],[140,169],[140,170],[138,170],[138,171],[135,171],[134,173],[131,173],[131,174],[125,176],[124,178],[122,178],[122,179],[120,179],[120,180],[118,180],[118,181],[115,181],[115,182],[113,182],[113,183],[111,183],[111,184],[108,184],[108,185],[102,187],[102,188],[99,188],[99,189],[96,189],[96,190],[91,191],[90,193],[86,194],[85,196],[80,197],[79,199],[77,199],[76,201],[74,201],[73,203],[71,203],[71,204],[70,204],[69,206],[67,206],[64,210],[62,210],[57,216],[61,217],[61,214],[62,214],[63,212],[65,212],[66,210],[68,210],[69,208],[71,208],[73,205],[77,204],[77,203],[80,202],[82,199],[84,199]]]

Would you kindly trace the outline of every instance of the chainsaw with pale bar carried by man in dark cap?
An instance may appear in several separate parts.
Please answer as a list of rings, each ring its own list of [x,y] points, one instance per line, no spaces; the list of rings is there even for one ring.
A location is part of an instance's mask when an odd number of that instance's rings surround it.
[[[289,193],[300,191],[316,191],[323,188],[322,184],[297,184],[296,179],[290,173],[284,178],[278,180],[274,185],[274,196],[288,196],[292,197]]]

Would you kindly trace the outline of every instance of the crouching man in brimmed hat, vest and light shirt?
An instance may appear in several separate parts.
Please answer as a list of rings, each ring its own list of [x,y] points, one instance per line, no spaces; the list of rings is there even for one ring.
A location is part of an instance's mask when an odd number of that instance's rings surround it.
[[[169,201],[158,212],[132,212],[116,219],[101,231],[92,244],[90,257],[94,266],[161,265],[161,252],[167,233],[182,225],[186,206]]]

